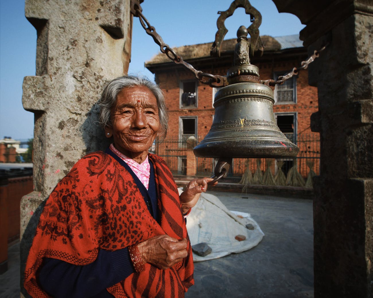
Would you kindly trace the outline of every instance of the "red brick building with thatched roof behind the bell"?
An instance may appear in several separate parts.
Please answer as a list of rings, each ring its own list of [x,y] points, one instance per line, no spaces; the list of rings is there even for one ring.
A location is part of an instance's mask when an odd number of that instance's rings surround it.
[[[283,37],[261,37],[265,47],[260,57],[258,52],[251,58],[251,64],[259,67],[261,80],[277,79],[278,76],[290,72],[300,66],[307,58],[307,50],[303,47],[298,35]],[[236,39],[228,39],[222,43],[221,56],[210,56],[212,43],[186,45],[174,48],[185,61],[195,69],[214,75],[225,76],[233,65],[233,50]],[[159,53],[145,67],[155,75],[156,82],[162,88],[169,110],[169,132],[164,148],[157,152],[165,156],[175,174],[185,174],[186,153],[183,151],[185,140],[194,136],[197,142],[208,133],[214,117],[214,94],[216,88],[204,85],[194,77],[194,73],[179,64],[173,63],[166,55]],[[310,116],[318,110],[317,88],[308,85],[307,70],[301,70],[297,76],[287,80],[283,85],[276,85],[273,112],[280,130],[300,147],[299,155],[306,156],[310,152],[318,153],[318,149],[310,144],[298,142],[297,136],[316,137],[310,130]],[[177,145],[170,145],[173,142]],[[181,142],[184,141],[184,142]],[[172,148],[171,148],[171,147]],[[233,174],[238,176],[244,171],[243,162],[233,161]],[[210,174],[214,161],[206,159],[198,161],[197,174]],[[293,160],[285,161],[290,166]],[[264,166],[264,165],[263,165]],[[177,171],[176,171],[177,168]],[[275,168],[273,169],[275,172]],[[300,170],[302,172],[302,170]],[[305,176],[307,171],[303,171]]]

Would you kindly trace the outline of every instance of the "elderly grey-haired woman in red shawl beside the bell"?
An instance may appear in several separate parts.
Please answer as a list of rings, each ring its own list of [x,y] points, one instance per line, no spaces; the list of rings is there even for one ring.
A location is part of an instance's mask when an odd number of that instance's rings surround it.
[[[184,297],[194,283],[185,218],[212,179],[179,196],[166,163],[148,153],[167,132],[154,83],[119,77],[99,105],[113,143],[80,159],[50,194],[25,288],[33,297]]]

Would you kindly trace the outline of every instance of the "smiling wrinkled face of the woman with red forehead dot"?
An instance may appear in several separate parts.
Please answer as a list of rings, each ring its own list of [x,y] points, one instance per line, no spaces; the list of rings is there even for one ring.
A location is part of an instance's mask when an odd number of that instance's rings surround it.
[[[128,157],[147,154],[160,128],[157,99],[146,87],[129,87],[119,92],[110,112],[112,126],[106,133],[117,150]]]

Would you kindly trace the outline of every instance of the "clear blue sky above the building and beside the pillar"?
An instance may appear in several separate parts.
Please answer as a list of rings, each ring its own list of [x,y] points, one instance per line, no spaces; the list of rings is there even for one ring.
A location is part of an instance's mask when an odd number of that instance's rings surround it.
[[[217,31],[217,11],[229,8],[231,0],[145,0],[142,13],[156,28],[163,41],[181,46],[211,42]],[[251,0],[262,15],[260,35],[273,37],[298,34],[304,25],[289,13],[279,13],[272,0]],[[25,18],[23,0],[0,0],[0,139],[33,137],[34,114],[23,110],[22,81],[35,75],[36,30]],[[239,26],[250,25],[250,17],[239,8],[226,19],[228,33],[235,38]],[[139,19],[134,18],[132,58],[129,73],[153,74],[144,68],[144,62],[159,53],[159,46],[145,33]]]

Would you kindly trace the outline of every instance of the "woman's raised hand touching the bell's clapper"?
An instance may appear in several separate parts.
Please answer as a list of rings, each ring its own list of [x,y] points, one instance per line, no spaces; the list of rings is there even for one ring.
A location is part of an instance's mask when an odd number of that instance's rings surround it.
[[[180,194],[180,202],[184,214],[188,212],[189,209],[194,207],[195,204],[197,204],[201,193],[204,193],[207,190],[207,183],[212,180],[213,178],[204,177],[193,179],[188,183],[185,190]],[[214,183],[213,185],[215,185],[216,183]]]

